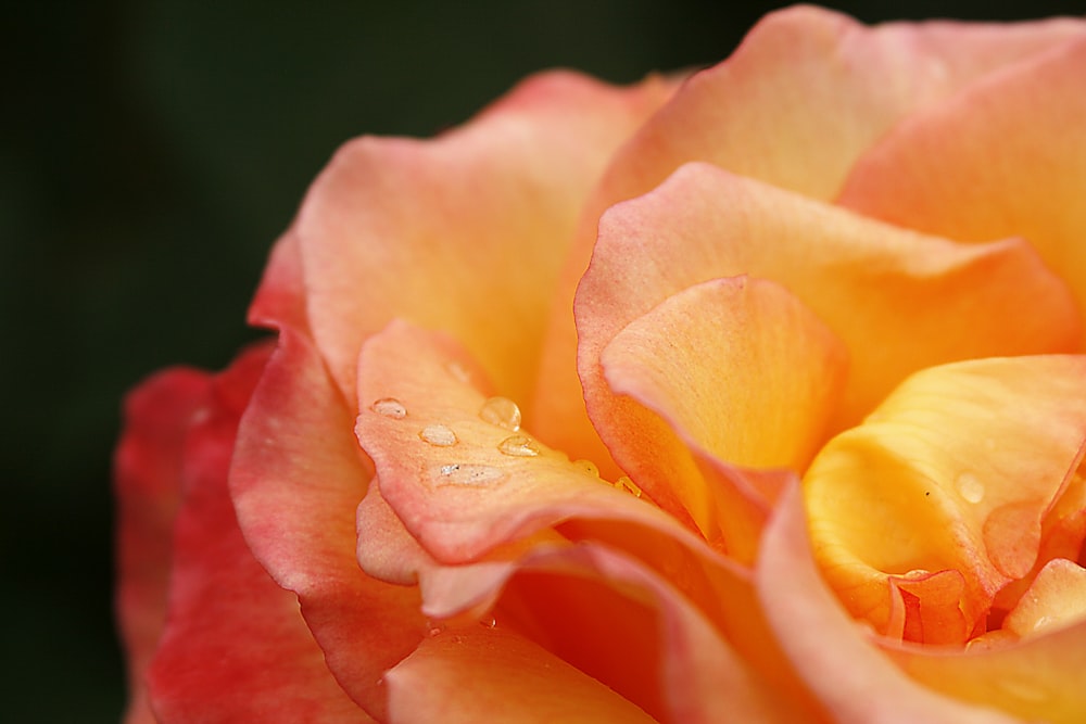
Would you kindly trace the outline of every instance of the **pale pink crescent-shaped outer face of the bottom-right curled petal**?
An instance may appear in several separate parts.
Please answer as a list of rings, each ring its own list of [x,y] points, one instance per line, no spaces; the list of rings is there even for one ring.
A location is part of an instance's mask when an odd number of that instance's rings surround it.
[[[767,528],[755,581],[781,646],[831,713],[832,721],[841,724],[1015,721],[921,686],[869,640],[819,577],[807,537],[803,498],[796,487],[783,495]]]

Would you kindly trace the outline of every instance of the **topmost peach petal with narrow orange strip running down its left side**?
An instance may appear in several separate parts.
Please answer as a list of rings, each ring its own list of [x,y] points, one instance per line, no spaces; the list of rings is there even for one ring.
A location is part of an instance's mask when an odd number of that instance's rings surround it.
[[[725,62],[695,75],[622,147],[593,194],[552,309],[533,420],[550,444],[603,459],[571,370],[568,300],[589,264],[603,212],[704,161],[816,199],[834,198],[849,168],[901,118],[977,77],[1086,33],[1070,20],[866,27],[795,7],[767,15]],[[995,234],[992,239],[1008,234]]]

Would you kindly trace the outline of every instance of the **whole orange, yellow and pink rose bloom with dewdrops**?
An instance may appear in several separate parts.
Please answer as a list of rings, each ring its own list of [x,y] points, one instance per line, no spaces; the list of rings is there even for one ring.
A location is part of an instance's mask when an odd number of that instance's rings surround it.
[[[1084,34],[798,8],[345,147],[275,350],[129,398],[129,719],[1079,720]]]

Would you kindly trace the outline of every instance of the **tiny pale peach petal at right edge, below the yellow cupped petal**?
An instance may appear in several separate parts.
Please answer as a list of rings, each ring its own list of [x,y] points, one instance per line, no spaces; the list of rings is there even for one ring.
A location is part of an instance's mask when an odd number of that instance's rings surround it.
[[[1086,619],[1086,569],[1056,558],[1040,570],[1033,585],[1003,621],[1019,636],[1031,636]]]

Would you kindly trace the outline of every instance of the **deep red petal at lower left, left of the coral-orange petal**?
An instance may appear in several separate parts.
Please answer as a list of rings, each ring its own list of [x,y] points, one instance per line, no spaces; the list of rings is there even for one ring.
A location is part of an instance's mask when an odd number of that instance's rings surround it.
[[[163,722],[372,721],[325,665],[298,599],[253,558],[227,492],[235,432],[268,350],[215,380],[180,466],[169,619],[148,670]]]

